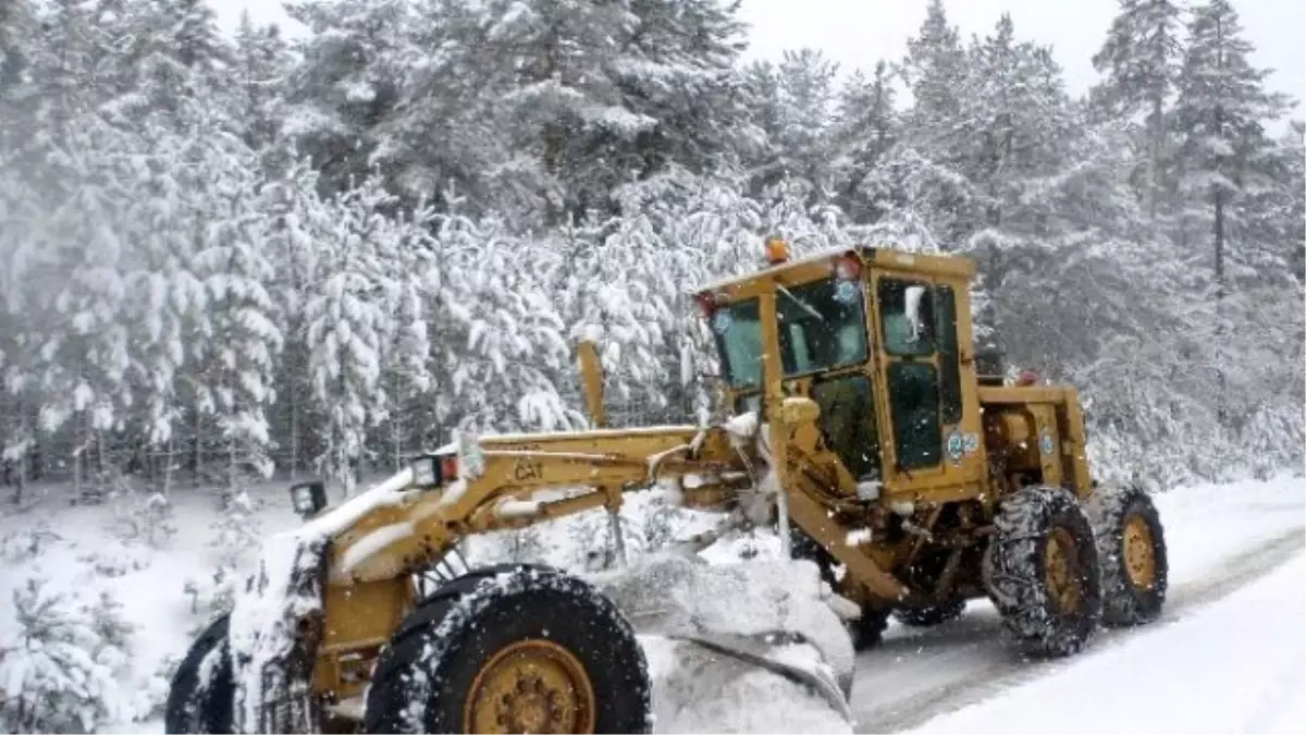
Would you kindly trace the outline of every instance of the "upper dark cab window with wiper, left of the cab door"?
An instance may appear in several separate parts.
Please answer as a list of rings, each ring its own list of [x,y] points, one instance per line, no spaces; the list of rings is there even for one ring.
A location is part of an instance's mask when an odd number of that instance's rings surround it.
[[[785,377],[866,361],[861,281],[827,279],[781,286],[776,297]]]

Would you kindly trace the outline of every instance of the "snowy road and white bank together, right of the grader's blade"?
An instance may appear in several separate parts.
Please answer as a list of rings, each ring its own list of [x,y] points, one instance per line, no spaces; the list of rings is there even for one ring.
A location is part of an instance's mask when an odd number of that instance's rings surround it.
[[[1157,506],[1170,548],[1162,620],[1102,632],[1059,662],[1023,660],[983,602],[926,632],[891,628],[858,658],[857,732],[1306,732],[1306,717],[1254,726],[1263,710],[1306,704],[1306,480],[1177,489]]]

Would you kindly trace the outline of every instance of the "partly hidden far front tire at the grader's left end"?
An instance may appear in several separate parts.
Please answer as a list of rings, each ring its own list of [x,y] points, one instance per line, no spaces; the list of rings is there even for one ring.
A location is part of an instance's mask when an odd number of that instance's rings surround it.
[[[200,634],[172,675],[163,710],[165,735],[230,735],[235,681],[223,615]]]

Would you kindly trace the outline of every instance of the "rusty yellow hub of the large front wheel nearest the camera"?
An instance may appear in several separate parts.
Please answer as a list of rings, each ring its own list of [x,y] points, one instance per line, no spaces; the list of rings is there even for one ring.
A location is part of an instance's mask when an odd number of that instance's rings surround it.
[[[552,641],[498,651],[477,672],[464,735],[593,735],[596,697],[585,667]]]

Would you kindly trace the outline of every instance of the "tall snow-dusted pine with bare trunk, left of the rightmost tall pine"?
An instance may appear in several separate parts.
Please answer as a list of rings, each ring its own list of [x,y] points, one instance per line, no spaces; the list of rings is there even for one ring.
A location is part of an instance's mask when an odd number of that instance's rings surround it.
[[[1174,99],[1183,60],[1183,5],[1175,0],[1119,0],[1106,41],[1093,55],[1102,81],[1091,90],[1106,118],[1143,118],[1140,190],[1156,218],[1168,187],[1171,135],[1166,112]]]

